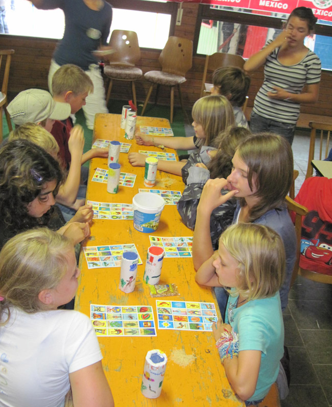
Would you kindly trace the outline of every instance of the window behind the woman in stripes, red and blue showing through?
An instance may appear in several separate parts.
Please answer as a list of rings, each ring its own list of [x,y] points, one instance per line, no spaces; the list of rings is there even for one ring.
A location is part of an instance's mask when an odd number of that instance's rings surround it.
[[[275,38],[288,15],[225,6],[200,6],[195,44],[197,54],[215,52],[238,54],[244,58],[262,49],[268,39]],[[318,20],[316,34],[305,39],[324,70],[332,70],[332,22]]]

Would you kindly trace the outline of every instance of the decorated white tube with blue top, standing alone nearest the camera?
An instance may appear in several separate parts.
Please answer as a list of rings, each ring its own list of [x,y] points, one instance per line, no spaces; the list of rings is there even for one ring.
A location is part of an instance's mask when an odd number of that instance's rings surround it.
[[[145,397],[157,398],[161,393],[167,356],[159,349],[149,350],[145,358],[141,392]]]

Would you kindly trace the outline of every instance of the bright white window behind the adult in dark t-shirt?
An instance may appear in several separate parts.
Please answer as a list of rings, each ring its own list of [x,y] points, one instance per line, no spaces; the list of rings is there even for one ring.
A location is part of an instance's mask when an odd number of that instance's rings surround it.
[[[163,49],[173,34],[176,3],[164,0],[110,0],[109,3],[113,6],[111,31],[136,31],[141,48]],[[4,13],[7,28],[3,25],[1,30],[0,20],[0,33],[54,39],[63,36],[64,15],[60,9],[38,10],[27,0],[5,0]]]

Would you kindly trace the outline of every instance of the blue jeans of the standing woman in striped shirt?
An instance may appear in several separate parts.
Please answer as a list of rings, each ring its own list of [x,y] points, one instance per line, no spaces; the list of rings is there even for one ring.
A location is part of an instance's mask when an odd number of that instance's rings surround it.
[[[289,123],[277,122],[276,120],[267,119],[257,115],[254,111],[250,115],[250,131],[252,133],[260,133],[266,131],[282,135],[292,145],[294,139],[296,125]]]

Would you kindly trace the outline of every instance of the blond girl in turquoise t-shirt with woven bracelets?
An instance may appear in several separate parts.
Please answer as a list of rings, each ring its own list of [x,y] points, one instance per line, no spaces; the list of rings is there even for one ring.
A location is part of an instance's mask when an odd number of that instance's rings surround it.
[[[230,385],[246,405],[262,401],[279,374],[284,269],[280,236],[263,225],[238,223],[221,235],[218,251],[196,274],[197,283],[230,293],[225,322],[212,330]]]

